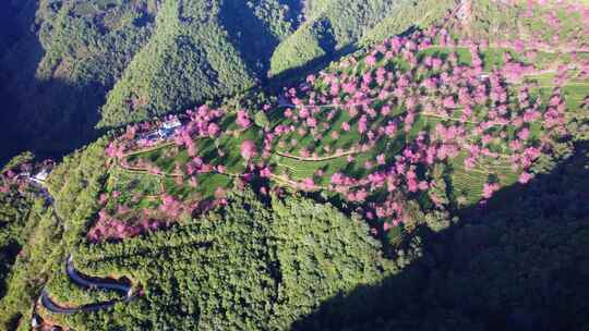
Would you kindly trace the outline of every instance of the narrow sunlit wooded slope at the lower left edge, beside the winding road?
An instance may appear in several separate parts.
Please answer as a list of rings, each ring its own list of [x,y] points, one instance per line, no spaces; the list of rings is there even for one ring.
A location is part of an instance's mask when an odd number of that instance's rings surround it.
[[[11,248],[16,249],[19,244],[22,249],[5,252],[15,257],[8,256],[7,266],[12,268],[3,280],[5,286],[2,285],[0,329],[16,330],[19,327],[19,330],[29,330],[29,318],[43,286],[53,274],[62,273],[65,257],[83,238],[82,233],[87,231],[87,220],[96,212],[105,180],[105,143],[106,139],[98,139],[84,150],[65,157],[52,171],[47,193],[26,177],[9,182],[12,189],[7,192],[4,180],[10,173],[1,174],[0,201],[11,196],[23,198],[23,195],[36,201],[31,204],[27,218],[12,218],[7,213],[8,226],[4,228],[4,222],[0,224],[1,244],[10,243],[4,237],[8,232],[24,225],[22,231],[11,236]],[[9,208],[2,208],[13,213]]]

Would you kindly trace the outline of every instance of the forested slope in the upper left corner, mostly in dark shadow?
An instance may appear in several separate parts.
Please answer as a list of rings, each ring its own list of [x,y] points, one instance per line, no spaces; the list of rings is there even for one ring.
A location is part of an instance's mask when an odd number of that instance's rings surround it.
[[[63,152],[96,138],[97,109],[151,32],[153,0],[23,1],[0,59],[3,140],[14,151]],[[10,124],[9,124],[10,123]]]

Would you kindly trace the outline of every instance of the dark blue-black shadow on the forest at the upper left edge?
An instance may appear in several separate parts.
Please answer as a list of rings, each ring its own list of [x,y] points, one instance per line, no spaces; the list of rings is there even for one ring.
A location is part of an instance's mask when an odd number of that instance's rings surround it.
[[[32,32],[0,59],[0,163],[23,150],[41,159],[60,158],[100,134],[94,126],[106,87],[57,77],[39,81],[37,66],[44,56]]]

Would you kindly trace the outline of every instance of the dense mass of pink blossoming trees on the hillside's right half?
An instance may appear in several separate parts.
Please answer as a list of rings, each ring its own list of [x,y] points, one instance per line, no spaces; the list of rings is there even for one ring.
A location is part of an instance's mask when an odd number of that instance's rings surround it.
[[[378,154],[374,160],[363,161],[361,167],[366,174],[362,177],[342,172],[330,177],[329,189],[342,194],[349,201],[371,206],[360,209],[368,218],[375,214],[381,219],[390,219],[389,224],[404,221],[399,192],[424,192],[431,195],[432,200],[440,201],[429,192],[435,183],[428,169],[437,162],[449,162],[460,155],[466,155],[464,167],[467,170],[478,168],[486,160],[512,162],[514,171],[522,171],[519,182],[528,183],[533,177],[528,169],[544,148],[550,148],[550,137],[566,132],[561,90],[554,90],[553,101],[548,109],[543,109],[540,99],[530,97],[529,86],[525,85],[513,97],[507,83],[520,79],[536,69],[507,54],[504,59],[506,65],[484,73],[481,60],[483,47],[474,42],[468,42],[471,65],[460,64],[454,52],[447,59],[428,56],[418,61],[418,52],[434,45],[434,39],[440,35],[449,36],[441,28],[431,28],[410,37],[395,37],[369,52],[364,58],[369,71],[361,76],[346,72],[321,72],[308,77],[298,89],[287,89],[284,97],[291,100],[294,107],[285,111],[286,123],[276,126],[273,136],[275,146],[292,148],[297,145],[290,142],[303,140],[308,135],[314,142],[323,142],[327,136],[336,140],[333,144],[336,147],[320,145],[322,149],[318,150],[314,149],[314,143],[300,146],[298,157],[313,159],[322,155],[342,154],[345,150],[337,147],[337,139],[356,130],[364,143],[352,145],[348,150],[371,152],[378,139],[395,138],[400,131],[412,132],[418,119],[437,119],[432,132],[418,132],[396,155]],[[443,40],[441,42],[444,44]],[[515,44],[517,48],[527,46],[522,40]],[[410,64],[410,69],[389,71],[383,66],[376,68],[383,58],[401,58]],[[348,69],[359,61],[349,58],[341,63],[342,69]],[[424,74],[428,72],[434,74]],[[310,82],[321,82],[317,86],[326,88],[313,89],[309,86]],[[375,106],[377,103],[381,105],[380,109]],[[481,112],[480,108],[486,111]],[[405,111],[399,112],[398,109]],[[298,110],[297,114],[293,110]],[[347,113],[349,120],[334,126],[332,121],[338,112]],[[316,120],[309,125],[311,118]],[[540,121],[546,131],[542,139],[533,136],[530,130],[533,123]],[[515,133],[510,132],[512,127],[516,128]],[[507,150],[504,148],[505,142],[509,147]],[[352,155],[347,158],[350,163],[354,162]],[[315,189],[316,186],[311,183],[317,180],[318,176],[305,179],[300,187]],[[500,187],[498,183],[486,183],[483,198],[491,198]],[[381,189],[389,192],[388,197],[382,201],[369,201],[371,193]]]

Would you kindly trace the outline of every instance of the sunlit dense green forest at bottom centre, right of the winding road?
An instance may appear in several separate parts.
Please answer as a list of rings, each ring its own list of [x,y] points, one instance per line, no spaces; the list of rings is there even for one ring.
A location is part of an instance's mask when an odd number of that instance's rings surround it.
[[[264,204],[250,189],[227,198],[224,210],[168,232],[81,247],[84,272],[127,274],[143,294],[122,309],[51,319],[76,330],[287,330],[321,301],[394,270],[368,226],[330,206],[294,197]],[[75,304],[77,292],[62,295]]]

